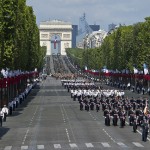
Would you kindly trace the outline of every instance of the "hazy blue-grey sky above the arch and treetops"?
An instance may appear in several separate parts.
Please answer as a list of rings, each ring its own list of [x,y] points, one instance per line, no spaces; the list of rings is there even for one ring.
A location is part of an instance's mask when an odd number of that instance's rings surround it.
[[[86,14],[89,24],[108,29],[108,24],[134,24],[150,16],[150,0],[26,0],[32,6],[37,24],[47,20],[63,20],[79,25]]]

